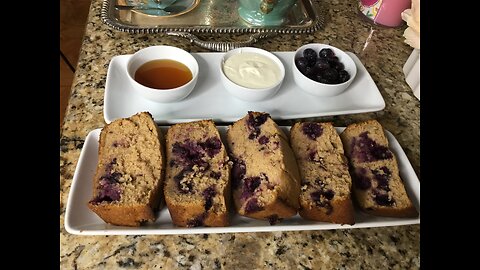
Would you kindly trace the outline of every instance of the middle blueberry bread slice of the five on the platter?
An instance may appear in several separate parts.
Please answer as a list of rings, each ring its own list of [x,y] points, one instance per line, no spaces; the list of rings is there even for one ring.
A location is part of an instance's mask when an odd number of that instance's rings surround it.
[[[237,212],[270,224],[295,215],[300,194],[297,162],[288,137],[270,115],[248,112],[228,127],[227,142]]]

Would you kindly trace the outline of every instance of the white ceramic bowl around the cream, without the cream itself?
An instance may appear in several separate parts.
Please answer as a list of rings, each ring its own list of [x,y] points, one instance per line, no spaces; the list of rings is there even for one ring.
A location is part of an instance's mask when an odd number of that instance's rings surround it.
[[[233,82],[227,77],[227,75],[224,72],[224,69],[223,69],[224,63],[231,56],[236,54],[241,54],[241,53],[257,53],[257,54],[266,56],[267,58],[272,60],[273,63],[279,68],[280,79],[274,85],[266,88],[249,88]],[[242,48],[237,48],[237,49],[233,49],[226,52],[220,61],[219,68],[220,68],[221,79],[222,79],[223,85],[225,86],[225,89],[234,97],[244,101],[262,101],[262,100],[268,99],[269,97],[272,97],[278,92],[278,90],[282,86],[283,79],[285,78],[285,67],[283,66],[282,61],[278,59],[278,57],[276,57],[274,54],[266,50],[253,48],[253,47],[242,47]]]

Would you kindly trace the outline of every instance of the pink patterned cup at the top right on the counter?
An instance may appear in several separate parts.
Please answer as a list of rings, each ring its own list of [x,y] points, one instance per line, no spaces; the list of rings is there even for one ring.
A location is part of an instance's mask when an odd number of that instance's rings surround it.
[[[401,13],[412,6],[411,0],[359,0],[360,12],[375,24],[396,27],[403,24]]]

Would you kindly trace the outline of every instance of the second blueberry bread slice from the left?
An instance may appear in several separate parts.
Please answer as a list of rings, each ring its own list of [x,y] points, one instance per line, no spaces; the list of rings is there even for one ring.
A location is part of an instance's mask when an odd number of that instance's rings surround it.
[[[228,226],[230,167],[211,120],[171,126],[166,136],[165,200],[182,227]]]

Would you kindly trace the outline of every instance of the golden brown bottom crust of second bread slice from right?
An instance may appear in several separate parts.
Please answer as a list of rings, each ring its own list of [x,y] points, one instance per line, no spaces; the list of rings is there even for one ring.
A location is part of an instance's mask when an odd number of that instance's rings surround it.
[[[345,200],[336,200],[331,202],[332,212],[329,215],[327,215],[325,210],[322,208],[312,207],[307,203],[300,203],[301,208],[299,214],[303,218],[337,224],[355,224],[355,212],[350,197]]]

